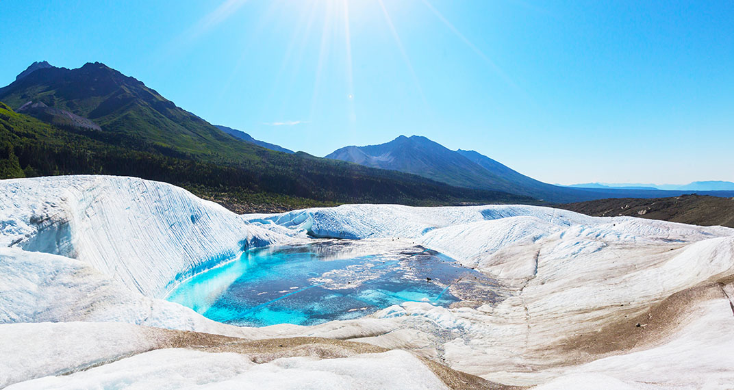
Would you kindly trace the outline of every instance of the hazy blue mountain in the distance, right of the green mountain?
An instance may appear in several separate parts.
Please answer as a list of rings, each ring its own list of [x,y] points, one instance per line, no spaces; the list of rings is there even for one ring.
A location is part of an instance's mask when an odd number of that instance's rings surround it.
[[[449,150],[423,136],[399,136],[386,144],[343,147],[326,158],[410,172],[460,187],[505,191],[553,202],[595,198],[588,192],[534,180],[473,150]]]

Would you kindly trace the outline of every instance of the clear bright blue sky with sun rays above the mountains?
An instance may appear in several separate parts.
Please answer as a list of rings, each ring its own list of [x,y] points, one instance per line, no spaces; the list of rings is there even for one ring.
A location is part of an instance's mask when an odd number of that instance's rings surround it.
[[[104,62],[323,156],[400,134],[548,183],[734,181],[734,1],[4,0],[0,84]]]

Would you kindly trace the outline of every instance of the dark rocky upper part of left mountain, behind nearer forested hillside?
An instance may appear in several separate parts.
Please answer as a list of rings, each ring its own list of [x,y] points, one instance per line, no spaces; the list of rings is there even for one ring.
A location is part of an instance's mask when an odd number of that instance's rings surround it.
[[[28,72],[34,65],[31,65]],[[21,73],[22,74],[22,73]],[[208,160],[252,153],[250,144],[179,108],[141,81],[100,62],[79,69],[42,67],[0,88],[0,101],[17,110],[32,101],[92,120],[128,144]]]

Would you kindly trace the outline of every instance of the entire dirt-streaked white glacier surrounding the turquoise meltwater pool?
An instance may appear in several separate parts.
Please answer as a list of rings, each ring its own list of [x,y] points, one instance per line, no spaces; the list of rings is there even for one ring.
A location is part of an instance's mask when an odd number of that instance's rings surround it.
[[[248,249],[313,238],[423,246],[497,280],[501,299],[261,328],[164,299]],[[0,180],[0,387],[9,389],[727,389],[733,297],[725,227],[526,205],[239,216],[132,177]]]

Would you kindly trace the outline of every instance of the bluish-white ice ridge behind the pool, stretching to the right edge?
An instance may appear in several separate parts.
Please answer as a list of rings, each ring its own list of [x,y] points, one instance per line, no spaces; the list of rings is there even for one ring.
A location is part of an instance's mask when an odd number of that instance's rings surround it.
[[[527,205],[408,207],[342,205],[283,214],[252,214],[247,221],[293,235],[324,238],[406,238],[476,267],[499,249],[562,232],[578,239],[628,243],[691,243],[734,235],[727,227],[695,227],[632,217],[589,217]]]

